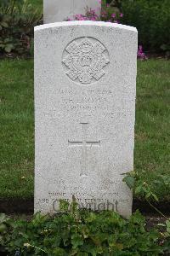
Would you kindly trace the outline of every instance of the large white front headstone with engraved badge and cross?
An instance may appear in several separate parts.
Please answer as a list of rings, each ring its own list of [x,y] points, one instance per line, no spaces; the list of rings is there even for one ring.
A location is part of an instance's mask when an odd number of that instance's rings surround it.
[[[35,212],[59,199],[128,217],[137,31],[71,21],[35,28]]]

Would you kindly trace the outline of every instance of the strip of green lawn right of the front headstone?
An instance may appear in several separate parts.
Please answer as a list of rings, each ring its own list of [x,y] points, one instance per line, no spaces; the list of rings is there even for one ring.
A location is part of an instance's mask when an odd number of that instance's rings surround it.
[[[170,175],[170,61],[138,62],[134,167],[150,184]],[[170,184],[155,191],[170,200]]]

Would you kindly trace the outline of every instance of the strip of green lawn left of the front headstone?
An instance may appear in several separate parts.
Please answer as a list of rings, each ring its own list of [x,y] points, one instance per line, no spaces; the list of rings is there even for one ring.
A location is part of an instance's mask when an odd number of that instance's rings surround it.
[[[33,61],[0,61],[0,198],[33,195]]]

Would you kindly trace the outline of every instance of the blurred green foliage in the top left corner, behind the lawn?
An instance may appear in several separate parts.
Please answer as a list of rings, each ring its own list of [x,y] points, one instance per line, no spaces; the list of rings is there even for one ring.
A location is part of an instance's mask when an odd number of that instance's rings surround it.
[[[41,15],[28,0],[0,2],[0,53],[30,54],[33,27]]]

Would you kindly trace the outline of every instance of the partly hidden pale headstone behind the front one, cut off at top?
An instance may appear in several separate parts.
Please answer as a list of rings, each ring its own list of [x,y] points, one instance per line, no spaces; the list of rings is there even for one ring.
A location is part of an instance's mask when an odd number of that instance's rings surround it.
[[[85,15],[88,8],[95,9],[99,15],[99,0],[43,0],[43,22],[53,23],[73,18],[74,15]]]

